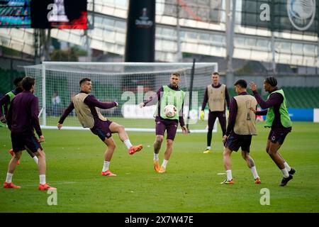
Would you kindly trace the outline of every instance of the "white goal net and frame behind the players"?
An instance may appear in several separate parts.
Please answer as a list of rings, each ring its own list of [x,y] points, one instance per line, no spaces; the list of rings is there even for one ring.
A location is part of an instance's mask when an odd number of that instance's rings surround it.
[[[40,124],[43,128],[56,128],[72,96],[79,93],[79,81],[89,77],[92,82],[91,94],[96,99],[117,101],[119,104],[118,108],[101,109],[103,116],[122,124],[127,131],[155,131],[153,114],[156,105],[140,109],[138,104],[148,100],[162,85],[169,84],[172,72],[179,72],[179,87],[186,92],[185,123],[189,123],[191,132],[206,132],[207,121],[198,121],[199,111],[205,89],[211,84],[211,73],[218,70],[218,65],[196,63],[191,92],[192,67],[192,62],[43,62],[42,65],[24,68],[26,75],[35,77],[35,95],[39,98]],[[207,106],[205,117],[207,120]],[[66,118],[63,128],[84,129],[74,111]]]

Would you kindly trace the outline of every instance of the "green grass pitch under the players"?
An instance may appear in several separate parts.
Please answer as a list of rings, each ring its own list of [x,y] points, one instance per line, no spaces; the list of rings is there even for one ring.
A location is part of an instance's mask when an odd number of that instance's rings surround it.
[[[126,127],[137,122],[119,120]],[[143,122],[154,126],[152,120]],[[232,155],[235,184],[220,184],[225,179],[218,175],[225,172],[220,128],[213,134],[211,154],[203,154],[206,133],[177,134],[164,174],[152,166],[155,133],[129,132],[133,143],[145,146],[135,155],[128,155],[115,134],[117,148],[110,167],[117,177],[100,175],[106,146],[96,135],[43,130],[47,182],[57,187],[57,206],[47,204],[50,194],[38,191],[37,167],[24,152],[13,175],[13,182],[22,188],[0,188],[0,212],[319,212],[319,124],[293,123],[293,132],[280,150],[296,169],[286,187],[279,187],[281,172],[264,151],[269,130],[262,123],[257,126],[259,135],[253,137],[251,155],[262,179],[259,185],[254,184],[240,153]],[[9,130],[0,128],[2,182],[11,158],[9,148]],[[160,164],[164,148],[163,143]],[[260,204],[262,188],[269,189],[270,205]]]

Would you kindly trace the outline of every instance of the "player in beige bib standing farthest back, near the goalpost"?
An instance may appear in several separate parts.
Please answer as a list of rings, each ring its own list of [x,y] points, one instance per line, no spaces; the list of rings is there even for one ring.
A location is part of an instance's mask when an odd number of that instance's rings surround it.
[[[219,74],[218,72],[213,72],[211,74],[211,79],[213,84],[209,84],[206,87],[206,91],[203,97],[203,104],[201,105],[201,121],[204,118],[204,109],[208,103],[209,114],[208,114],[208,132],[207,132],[207,148],[203,152],[204,154],[211,153],[211,138],[213,135],[213,127],[218,118],[220,123],[220,128],[222,129],[222,136],[226,132],[226,104],[229,109],[229,94],[225,84],[219,83]]]

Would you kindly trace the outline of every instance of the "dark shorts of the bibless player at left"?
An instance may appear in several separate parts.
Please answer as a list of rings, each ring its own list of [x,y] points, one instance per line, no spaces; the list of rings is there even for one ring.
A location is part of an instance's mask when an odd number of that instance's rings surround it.
[[[11,132],[11,143],[14,153],[29,148],[33,153],[37,152],[38,149],[43,150],[38,139],[34,133],[12,133]]]

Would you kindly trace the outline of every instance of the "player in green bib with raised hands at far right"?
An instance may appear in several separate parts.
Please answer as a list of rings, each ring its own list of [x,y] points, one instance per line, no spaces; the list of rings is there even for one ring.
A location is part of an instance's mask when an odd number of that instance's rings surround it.
[[[286,160],[279,154],[278,150],[284,143],[286,135],[291,132],[291,120],[286,106],[286,97],[282,89],[276,87],[277,80],[275,77],[267,77],[264,80],[264,90],[269,92],[267,101],[264,101],[257,92],[257,87],[254,82],[250,82],[250,89],[254,93],[258,104],[264,111],[257,111],[257,115],[266,115],[265,128],[271,128],[267,140],[266,151],[272,160],[276,163],[279,170],[281,170],[283,179],[281,180],[281,187],[286,186],[289,180],[293,179],[293,170]]]

